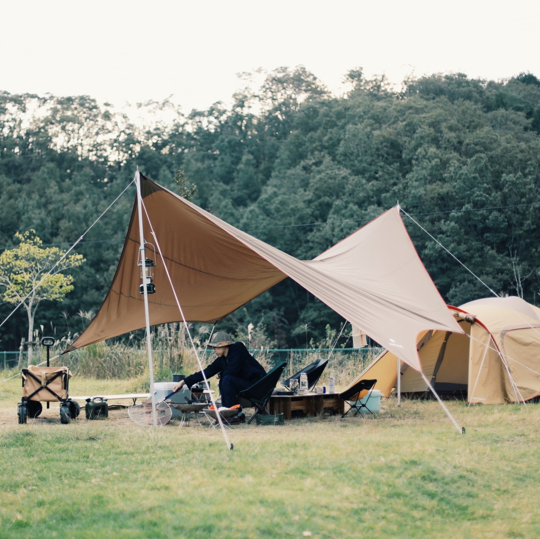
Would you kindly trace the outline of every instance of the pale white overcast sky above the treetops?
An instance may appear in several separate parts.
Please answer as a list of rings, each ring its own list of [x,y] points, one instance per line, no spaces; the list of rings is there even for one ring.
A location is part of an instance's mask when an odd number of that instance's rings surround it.
[[[538,0],[0,0],[0,90],[87,94],[117,107],[173,95],[188,112],[241,86],[235,73],[305,65],[330,90],[363,66],[540,77]]]

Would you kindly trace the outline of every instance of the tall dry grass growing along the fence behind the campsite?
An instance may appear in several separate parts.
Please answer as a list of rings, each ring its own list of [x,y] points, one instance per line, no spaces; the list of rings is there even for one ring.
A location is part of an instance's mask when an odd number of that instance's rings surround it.
[[[191,329],[199,359],[203,366],[206,366],[214,358],[212,351],[205,346],[210,327],[199,325]],[[325,340],[319,343],[312,342],[313,348],[305,351],[297,350],[287,354],[263,348],[254,355],[267,371],[280,361],[286,361],[287,367],[284,371],[284,379],[298,372],[298,370],[315,359],[329,357],[328,367],[325,369],[319,385],[325,384],[328,386],[330,372],[333,372],[336,386],[345,387],[375,359],[380,349],[365,348],[354,352],[346,352],[338,347],[334,348],[332,354],[330,354],[329,349],[332,349],[335,343],[336,332],[328,327],[327,333]],[[76,336],[74,335],[71,338],[68,335],[59,340],[55,347],[51,349],[51,356],[61,354]],[[191,374],[199,370],[191,342],[188,342],[186,337],[184,328],[180,324],[163,324],[153,327],[151,341],[155,381],[170,381],[173,374]],[[239,337],[241,338],[242,335],[237,335],[237,338]],[[246,343],[249,346],[249,342],[246,341]],[[46,351],[42,348],[40,355],[38,353],[35,358],[35,363],[44,361],[45,358]],[[59,358],[52,362],[52,365],[68,366],[74,375],[83,378],[98,380],[129,379],[132,381],[131,389],[137,392],[147,391],[150,388],[146,339],[141,339],[136,334],[131,334],[130,338],[124,342],[114,340],[97,342],[69,354],[60,355]]]

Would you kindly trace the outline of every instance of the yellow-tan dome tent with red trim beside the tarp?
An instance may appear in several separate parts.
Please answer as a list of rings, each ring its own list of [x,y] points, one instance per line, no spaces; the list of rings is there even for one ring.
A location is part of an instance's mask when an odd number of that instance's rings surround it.
[[[421,368],[438,393],[467,392],[471,403],[501,404],[540,395],[540,309],[521,298],[485,298],[448,307],[464,333],[422,332]],[[400,362],[401,392],[427,392],[420,372]],[[357,377],[389,396],[397,357],[385,351]]]

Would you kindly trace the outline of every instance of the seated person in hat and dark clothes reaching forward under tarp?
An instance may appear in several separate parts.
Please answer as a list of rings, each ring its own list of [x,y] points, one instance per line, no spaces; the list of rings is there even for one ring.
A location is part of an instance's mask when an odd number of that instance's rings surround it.
[[[248,387],[253,386],[266,375],[266,370],[247,351],[243,342],[233,342],[231,336],[224,331],[214,334],[211,341],[206,346],[214,349],[217,358],[204,369],[206,379],[220,374],[219,392],[221,394],[221,405],[226,408],[238,406],[238,413],[235,414],[229,423],[243,423],[246,420],[245,414],[240,407],[238,394]],[[203,372],[199,370],[184,380],[180,380],[174,390],[178,391],[183,386],[191,389],[194,383],[204,380]]]

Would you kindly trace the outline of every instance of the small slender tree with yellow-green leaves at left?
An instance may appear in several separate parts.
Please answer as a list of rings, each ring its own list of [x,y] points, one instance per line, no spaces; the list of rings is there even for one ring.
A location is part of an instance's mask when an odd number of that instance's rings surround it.
[[[35,230],[17,232],[15,237],[19,246],[0,255],[0,285],[5,287],[4,301],[14,305],[22,303],[28,314],[28,363],[31,364],[33,324],[39,303],[63,301],[73,289],[73,277],[63,272],[80,266],[85,260],[82,254],[63,258],[65,252],[58,247],[43,247]]]

